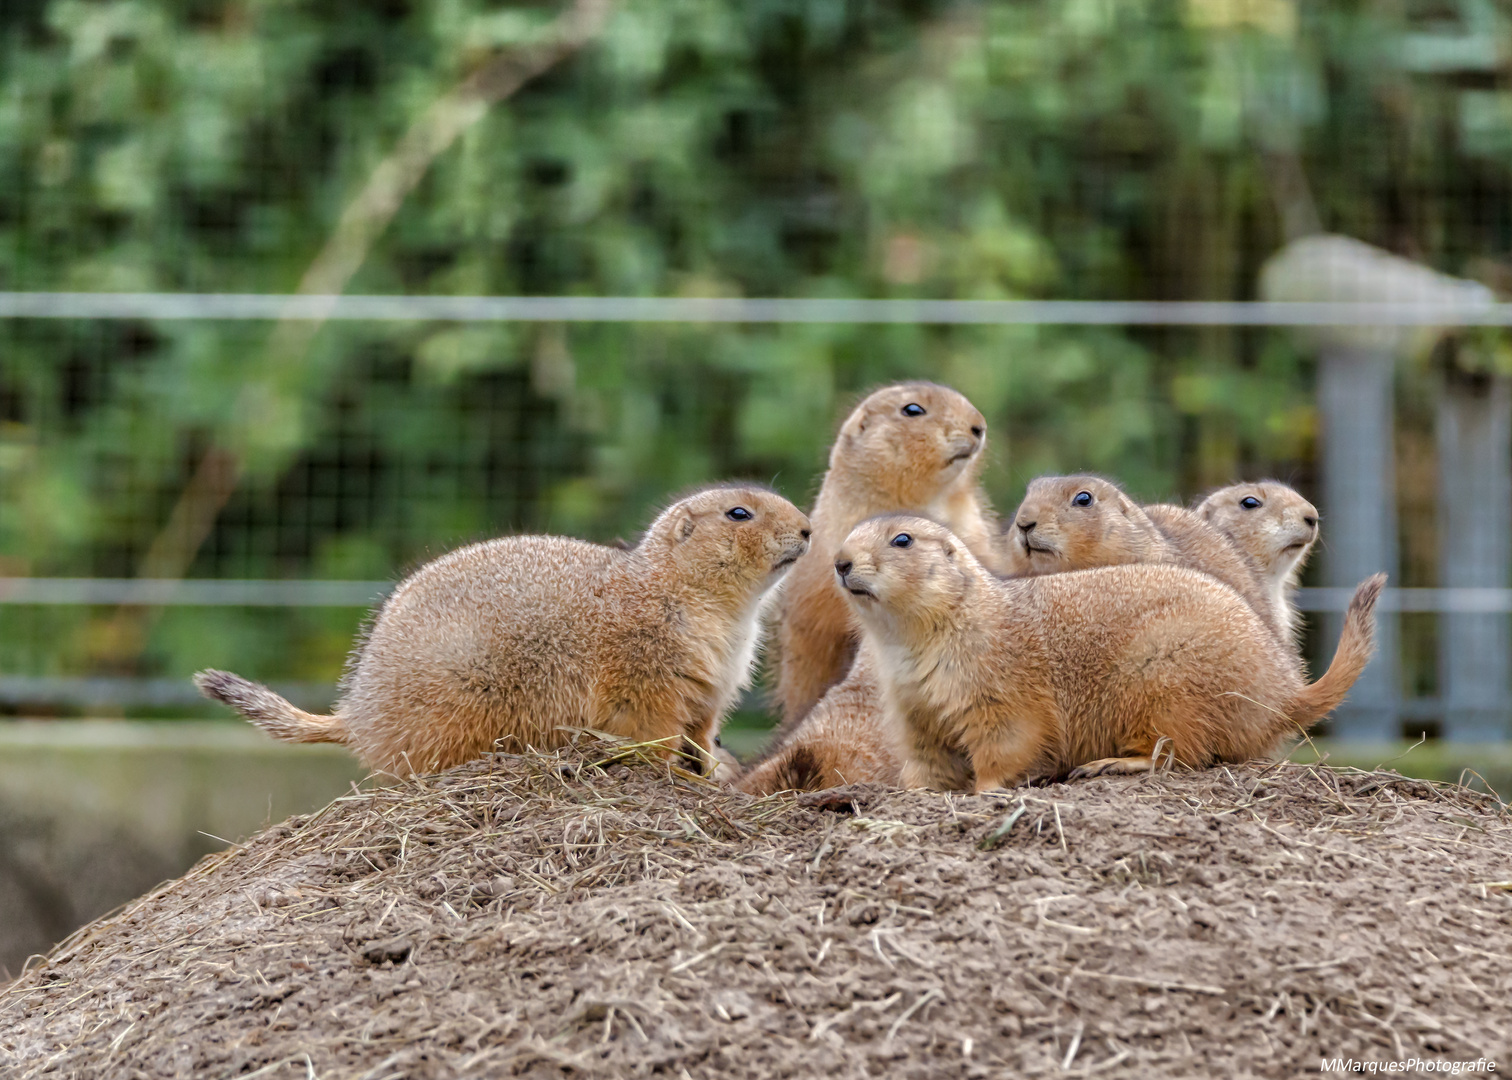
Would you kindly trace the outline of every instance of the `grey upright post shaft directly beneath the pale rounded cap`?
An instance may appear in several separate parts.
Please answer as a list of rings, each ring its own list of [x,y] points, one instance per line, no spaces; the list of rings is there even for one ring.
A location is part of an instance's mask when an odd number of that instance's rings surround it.
[[[1318,358],[1321,520],[1325,584],[1352,588],[1397,569],[1394,430],[1396,357],[1377,346],[1335,342]],[[1334,656],[1344,617],[1323,619],[1325,653]],[[1334,712],[1334,735],[1387,741],[1400,735],[1399,619],[1377,617],[1376,658]],[[1328,661],[1321,661],[1326,664]],[[1323,670],[1320,666],[1318,670]]]

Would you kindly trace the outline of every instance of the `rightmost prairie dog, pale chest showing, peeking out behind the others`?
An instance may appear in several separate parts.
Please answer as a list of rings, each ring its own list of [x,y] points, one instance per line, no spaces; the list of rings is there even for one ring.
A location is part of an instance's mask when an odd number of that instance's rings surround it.
[[[1276,479],[1222,487],[1196,514],[1226,535],[1264,585],[1270,620],[1296,643],[1302,617],[1291,602],[1318,538],[1318,510]]]

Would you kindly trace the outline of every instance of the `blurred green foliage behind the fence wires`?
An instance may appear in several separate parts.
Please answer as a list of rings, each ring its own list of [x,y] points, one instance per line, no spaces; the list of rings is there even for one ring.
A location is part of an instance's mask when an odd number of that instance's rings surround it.
[[[555,15],[12,0],[0,287],[289,292],[425,107]],[[1491,0],[623,0],[435,162],[351,290],[1249,298],[1282,221],[1498,283],[1507,30]],[[277,449],[197,575],[632,535],[717,476],[807,502],[848,402],[898,377],[983,408],[1004,508],[1052,469],[1145,498],[1311,476],[1279,334],[333,324],[277,380],[268,336],[0,325],[0,572],[132,573],[260,380]],[[0,611],[6,669],[85,670],[107,614]],[[355,620],[171,613],[138,670],[331,678]]]

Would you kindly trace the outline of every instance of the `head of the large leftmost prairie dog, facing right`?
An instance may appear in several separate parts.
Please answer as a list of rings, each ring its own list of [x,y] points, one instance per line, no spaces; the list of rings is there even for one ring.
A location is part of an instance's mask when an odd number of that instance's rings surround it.
[[[742,604],[777,584],[809,549],[809,519],[758,484],[720,484],[679,499],[638,551],[686,585]]]

